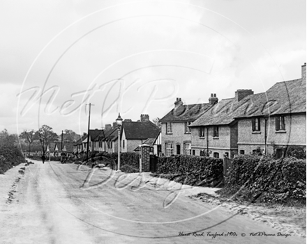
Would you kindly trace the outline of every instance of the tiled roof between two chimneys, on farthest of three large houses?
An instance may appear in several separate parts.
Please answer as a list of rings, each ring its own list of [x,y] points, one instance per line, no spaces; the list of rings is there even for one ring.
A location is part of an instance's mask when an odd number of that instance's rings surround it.
[[[180,105],[178,108],[173,108],[167,113],[160,122],[188,122],[197,120],[203,115],[212,105],[210,104],[191,104]]]

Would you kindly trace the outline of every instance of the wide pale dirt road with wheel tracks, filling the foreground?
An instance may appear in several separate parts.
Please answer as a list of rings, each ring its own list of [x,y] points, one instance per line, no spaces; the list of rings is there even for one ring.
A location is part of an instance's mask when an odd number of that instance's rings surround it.
[[[84,185],[87,167],[33,162],[24,175],[10,179],[10,197],[1,202],[1,244],[305,243],[244,215],[145,184],[141,177],[133,181],[96,170]]]

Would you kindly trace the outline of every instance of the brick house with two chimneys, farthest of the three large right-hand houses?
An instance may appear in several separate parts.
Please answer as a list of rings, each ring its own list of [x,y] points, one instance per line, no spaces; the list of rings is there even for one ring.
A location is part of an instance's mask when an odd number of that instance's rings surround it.
[[[216,95],[211,95],[208,104],[184,105],[177,98],[172,111],[167,113],[161,123],[161,152],[165,156],[174,154],[195,154],[191,149],[191,130],[189,125],[203,115],[218,101]]]

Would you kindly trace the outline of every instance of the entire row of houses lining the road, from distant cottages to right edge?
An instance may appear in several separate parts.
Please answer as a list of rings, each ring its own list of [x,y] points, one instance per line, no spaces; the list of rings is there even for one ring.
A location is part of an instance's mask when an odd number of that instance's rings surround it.
[[[86,152],[87,135],[75,143],[75,152]],[[89,131],[89,150],[137,152],[151,146],[151,154],[234,157],[255,150],[282,154],[289,145],[306,147],[306,63],[301,79],[276,83],[266,92],[237,90],[219,101],[211,94],[206,104],[185,105],[181,98],[160,120],[160,127],[141,115],[140,120],[106,124]]]

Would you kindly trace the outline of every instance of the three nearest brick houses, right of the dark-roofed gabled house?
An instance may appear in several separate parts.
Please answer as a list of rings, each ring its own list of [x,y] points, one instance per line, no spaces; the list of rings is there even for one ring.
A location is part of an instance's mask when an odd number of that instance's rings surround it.
[[[184,105],[177,98],[162,123],[162,152],[220,158],[235,154],[283,154],[306,148],[306,63],[301,79],[276,83],[267,92],[237,90],[234,97]]]

